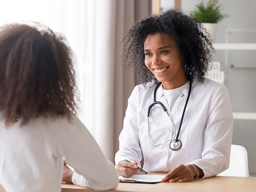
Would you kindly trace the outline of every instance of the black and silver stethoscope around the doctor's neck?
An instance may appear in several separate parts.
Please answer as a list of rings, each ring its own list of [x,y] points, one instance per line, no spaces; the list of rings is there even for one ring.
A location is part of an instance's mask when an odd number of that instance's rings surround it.
[[[160,83],[157,84],[157,86],[156,86],[156,88],[155,88],[155,90],[154,90],[154,103],[152,103],[152,104],[149,106],[149,108],[148,108],[148,140],[149,140],[150,145],[153,146],[153,147],[156,147],[156,146],[159,146],[159,145],[164,145],[164,144],[166,144],[166,142],[171,141],[171,142],[170,142],[170,149],[176,151],[176,150],[178,150],[178,149],[181,147],[181,145],[182,145],[181,141],[178,140],[178,138],[179,138],[180,128],[181,128],[181,125],[182,125],[182,121],[183,121],[183,118],[184,118],[184,114],[185,114],[186,107],[187,107],[188,100],[189,100],[190,93],[191,93],[192,80],[190,80],[190,82],[189,82],[188,96],[187,96],[186,104],[185,104],[185,106],[184,106],[184,110],[183,110],[182,117],[181,117],[181,120],[180,120],[180,127],[179,127],[179,130],[178,130],[177,136],[176,136],[176,131],[175,131],[175,129],[174,129],[174,125],[173,125],[173,123],[172,123],[172,120],[171,120],[171,118],[170,118],[170,115],[168,114],[168,112],[167,112],[166,109],[164,108],[164,105],[163,105],[161,102],[156,101],[156,91],[157,91],[158,87],[159,87],[161,84],[162,84],[162,82],[160,82]],[[167,115],[168,118],[170,119],[170,122],[171,122],[171,124],[172,124],[172,128],[173,128],[173,130],[174,130],[174,136],[173,136],[172,138],[170,138],[169,140],[164,140],[164,141],[161,142],[160,144],[153,145],[152,142],[151,142],[151,140],[150,140],[150,134],[149,134],[149,116],[150,116],[150,109],[151,109],[154,105],[156,105],[156,104],[159,104],[159,105],[163,108],[164,112],[166,113],[166,115]],[[175,136],[176,136],[176,139],[174,139]],[[173,139],[173,140],[172,140],[172,139]]]

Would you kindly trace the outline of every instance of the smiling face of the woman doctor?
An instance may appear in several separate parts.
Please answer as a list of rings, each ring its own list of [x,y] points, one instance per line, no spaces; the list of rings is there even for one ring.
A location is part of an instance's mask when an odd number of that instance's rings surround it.
[[[180,50],[170,35],[148,34],[144,53],[146,66],[166,90],[178,88],[187,82]]]

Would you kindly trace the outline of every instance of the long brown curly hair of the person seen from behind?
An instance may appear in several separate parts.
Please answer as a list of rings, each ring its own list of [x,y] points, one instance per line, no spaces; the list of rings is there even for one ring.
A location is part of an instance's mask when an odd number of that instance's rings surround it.
[[[73,52],[66,39],[42,24],[0,28],[0,114],[8,128],[38,116],[76,114],[79,100]]]

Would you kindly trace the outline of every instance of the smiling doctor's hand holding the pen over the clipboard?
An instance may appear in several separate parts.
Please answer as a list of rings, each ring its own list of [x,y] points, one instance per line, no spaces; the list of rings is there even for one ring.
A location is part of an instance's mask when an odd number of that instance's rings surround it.
[[[120,161],[118,162],[116,166],[116,170],[118,171],[118,174],[123,177],[130,177],[137,172],[140,172],[137,170],[138,168],[138,163],[136,161],[130,161],[125,162],[125,161]]]

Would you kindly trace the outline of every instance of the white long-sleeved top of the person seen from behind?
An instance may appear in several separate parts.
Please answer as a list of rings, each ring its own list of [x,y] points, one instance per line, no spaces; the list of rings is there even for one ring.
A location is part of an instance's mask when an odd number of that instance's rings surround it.
[[[60,192],[63,157],[80,174],[73,174],[75,184],[117,187],[114,165],[75,115],[71,122],[40,117],[9,128],[0,116],[0,185],[6,192]]]

